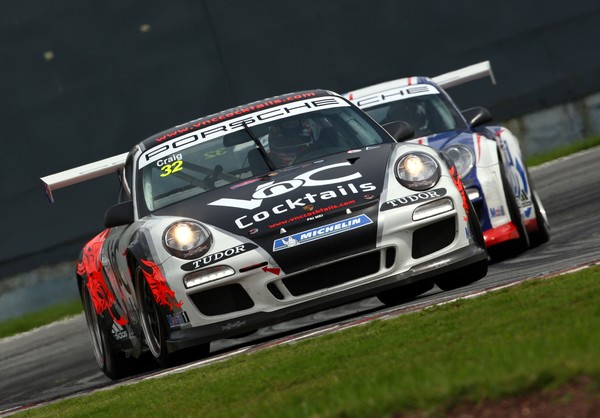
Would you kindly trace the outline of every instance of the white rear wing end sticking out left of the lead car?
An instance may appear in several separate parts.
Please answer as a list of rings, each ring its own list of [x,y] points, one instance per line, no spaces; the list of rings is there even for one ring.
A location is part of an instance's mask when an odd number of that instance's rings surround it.
[[[52,192],[63,187],[72,186],[97,177],[102,177],[110,173],[116,173],[125,166],[125,160],[129,153],[115,155],[93,163],[84,164],[79,167],[61,171],[60,173],[50,174],[42,177],[44,192],[50,203],[54,203]]]

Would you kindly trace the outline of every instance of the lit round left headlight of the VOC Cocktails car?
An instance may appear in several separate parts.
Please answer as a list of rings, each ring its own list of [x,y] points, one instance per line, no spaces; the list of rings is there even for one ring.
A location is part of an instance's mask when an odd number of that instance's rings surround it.
[[[165,231],[167,251],[179,258],[196,258],[204,255],[212,245],[210,232],[196,222],[176,222]]]

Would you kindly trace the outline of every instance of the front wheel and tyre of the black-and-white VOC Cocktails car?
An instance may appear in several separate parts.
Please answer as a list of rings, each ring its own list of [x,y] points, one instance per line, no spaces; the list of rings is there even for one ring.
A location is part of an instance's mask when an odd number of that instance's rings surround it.
[[[189,363],[209,354],[210,344],[202,344],[169,353],[167,348],[168,325],[154,299],[148,281],[144,278],[141,267],[136,270],[135,286],[140,310],[140,322],[146,345],[161,368]]]

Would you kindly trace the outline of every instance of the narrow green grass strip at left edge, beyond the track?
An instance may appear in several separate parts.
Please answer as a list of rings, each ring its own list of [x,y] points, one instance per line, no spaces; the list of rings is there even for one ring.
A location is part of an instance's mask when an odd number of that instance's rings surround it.
[[[81,301],[75,299],[28,313],[18,318],[7,319],[0,322],[0,338],[29,331],[82,311]]]

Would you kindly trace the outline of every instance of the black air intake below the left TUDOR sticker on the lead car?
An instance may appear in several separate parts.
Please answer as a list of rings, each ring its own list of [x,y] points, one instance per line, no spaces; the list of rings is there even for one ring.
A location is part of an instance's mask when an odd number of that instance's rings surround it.
[[[254,302],[239,283],[197,292],[190,295],[190,299],[206,316],[224,315],[254,306]]]

